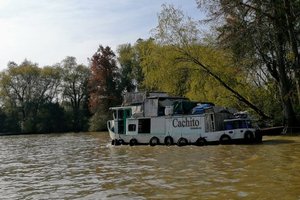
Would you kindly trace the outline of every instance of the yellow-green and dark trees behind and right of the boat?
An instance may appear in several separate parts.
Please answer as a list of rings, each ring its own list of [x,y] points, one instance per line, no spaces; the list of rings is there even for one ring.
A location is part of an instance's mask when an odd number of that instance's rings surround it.
[[[206,20],[163,5],[153,37],[119,49],[138,87],[248,110],[261,125],[299,126],[299,0],[196,2]]]

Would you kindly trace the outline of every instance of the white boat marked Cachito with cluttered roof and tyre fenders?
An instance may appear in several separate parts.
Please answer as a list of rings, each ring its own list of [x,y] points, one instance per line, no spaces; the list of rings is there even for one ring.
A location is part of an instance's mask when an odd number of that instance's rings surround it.
[[[107,122],[107,127],[112,145],[184,146],[262,141],[246,113],[166,93],[128,93],[123,106],[110,109],[113,120]]]

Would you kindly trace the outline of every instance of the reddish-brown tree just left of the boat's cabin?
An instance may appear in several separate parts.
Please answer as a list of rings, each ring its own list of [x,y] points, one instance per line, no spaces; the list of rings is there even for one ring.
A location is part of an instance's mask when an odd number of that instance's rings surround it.
[[[109,107],[122,102],[119,87],[119,72],[116,56],[110,47],[99,46],[90,60],[89,106],[94,114],[91,119],[92,130],[103,130],[109,119]]]

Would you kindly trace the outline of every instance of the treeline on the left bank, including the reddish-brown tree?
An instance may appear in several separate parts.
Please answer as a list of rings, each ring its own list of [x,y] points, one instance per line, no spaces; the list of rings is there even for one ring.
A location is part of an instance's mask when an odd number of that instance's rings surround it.
[[[126,45],[119,49],[127,54]],[[123,93],[140,84],[132,77],[139,68],[125,57],[100,45],[89,66],[77,64],[75,57],[44,67],[10,62],[0,73],[0,133],[105,130],[109,107],[120,105]]]

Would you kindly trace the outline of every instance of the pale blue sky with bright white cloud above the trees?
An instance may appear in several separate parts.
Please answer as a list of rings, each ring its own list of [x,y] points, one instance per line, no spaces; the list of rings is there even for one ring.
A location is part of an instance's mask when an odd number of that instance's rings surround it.
[[[149,38],[164,3],[202,16],[195,0],[0,0],[0,70],[9,61],[43,67],[67,56],[88,65],[99,45],[115,51]]]

